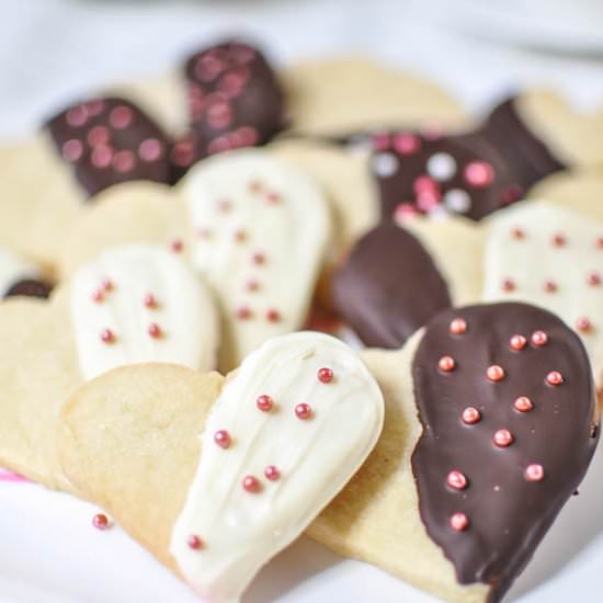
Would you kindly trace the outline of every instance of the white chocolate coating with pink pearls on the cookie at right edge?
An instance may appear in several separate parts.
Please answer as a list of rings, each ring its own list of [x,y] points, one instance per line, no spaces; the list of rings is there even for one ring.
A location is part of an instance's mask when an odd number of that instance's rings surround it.
[[[603,224],[547,203],[490,220],[486,300],[522,300],[556,312],[580,334],[595,382],[603,377]]]

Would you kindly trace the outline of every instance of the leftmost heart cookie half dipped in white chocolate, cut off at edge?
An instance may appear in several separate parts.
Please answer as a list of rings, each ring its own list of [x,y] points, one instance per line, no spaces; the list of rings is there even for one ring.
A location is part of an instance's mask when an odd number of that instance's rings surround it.
[[[0,464],[70,489],[52,425],[71,390],[124,364],[174,362],[208,371],[218,337],[212,304],[193,270],[173,253],[133,246],[82,266],[49,303],[0,305]]]

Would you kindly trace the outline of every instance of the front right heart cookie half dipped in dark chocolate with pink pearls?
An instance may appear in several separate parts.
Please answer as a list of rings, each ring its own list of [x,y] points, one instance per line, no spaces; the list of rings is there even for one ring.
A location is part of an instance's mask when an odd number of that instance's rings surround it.
[[[598,443],[579,338],[532,306],[473,306],[363,357],[384,433],[309,535],[446,601],[500,601]]]

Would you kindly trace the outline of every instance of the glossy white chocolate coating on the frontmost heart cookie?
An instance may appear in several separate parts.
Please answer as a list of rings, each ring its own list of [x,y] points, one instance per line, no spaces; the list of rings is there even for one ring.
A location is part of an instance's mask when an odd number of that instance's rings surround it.
[[[321,383],[318,371],[331,368]],[[255,406],[274,400],[270,412]],[[295,407],[312,408],[308,420]],[[322,333],[274,338],[250,354],[214,403],[202,456],[178,519],[170,551],[194,589],[209,601],[237,600],[260,568],[294,541],[343,488],[383,428],[383,395],[360,357]],[[214,434],[227,430],[228,448]],[[281,478],[264,477],[274,465]],[[261,482],[248,492],[242,479]],[[187,545],[198,536],[203,547]]]

